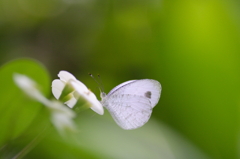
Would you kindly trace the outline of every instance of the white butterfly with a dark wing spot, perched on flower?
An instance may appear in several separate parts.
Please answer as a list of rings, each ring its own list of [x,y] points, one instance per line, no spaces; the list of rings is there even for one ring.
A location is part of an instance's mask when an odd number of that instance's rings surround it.
[[[156,80],[131,80],[116,86],[107,95],[102,92],[101,103],[120,127],[136,129],[149,120],[161,91],[161,84]]]

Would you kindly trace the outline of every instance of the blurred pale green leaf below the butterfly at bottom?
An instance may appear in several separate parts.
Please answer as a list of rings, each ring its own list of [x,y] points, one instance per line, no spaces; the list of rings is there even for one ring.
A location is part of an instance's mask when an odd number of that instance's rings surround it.
[[[80,131],[67,140],[52,129],[26,158],[36,158],[40,154],[40,158],[57,159],[209,159],[180,134],[154,119],[139,129],[126,131],[109,113],[105,116],[92,114],[92,111],[85,111],[76,118]]]

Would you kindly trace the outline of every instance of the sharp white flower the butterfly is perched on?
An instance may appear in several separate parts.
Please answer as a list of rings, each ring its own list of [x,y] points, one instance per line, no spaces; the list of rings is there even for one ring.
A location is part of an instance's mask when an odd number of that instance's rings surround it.
[[[52,82],[52,92],[56,99],[66,99],[64,101],[65,104],[67,104],[70,108],[73,108],[77,103],[77,100],[81,98],[93,111],[103,115],[104,110],[102,104],[97,100],[95,94],[93,94],[82,82],[77,80],[67,71],[60,71],[58,77],[60,80],[55,79]],[[72,90],[69,88],[72,88]],[[65,91],[65,89],[68,91]]]

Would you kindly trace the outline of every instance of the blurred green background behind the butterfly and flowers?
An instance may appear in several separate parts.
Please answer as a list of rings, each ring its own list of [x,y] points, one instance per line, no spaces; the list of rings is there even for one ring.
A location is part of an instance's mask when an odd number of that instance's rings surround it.
[[[106,92],[131,79],[163,87],[144,127],[87,110],[74,139],[53,129],[26,158],[240,158],[239,17],[236,0],[0,0],[2,65],[30,57],[97,95],[89,72]]]

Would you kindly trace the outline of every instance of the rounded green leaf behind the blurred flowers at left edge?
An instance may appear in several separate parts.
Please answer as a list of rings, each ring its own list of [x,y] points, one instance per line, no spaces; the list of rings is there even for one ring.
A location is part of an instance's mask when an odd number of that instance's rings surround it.
[[[13,82],[13,74],[20,73],[35,80],[47,95],[50,79],[46,69],[37,61],[19,59],[0,68],[0,146],[21,135],[41,109],[41,104],[29,99]]]

